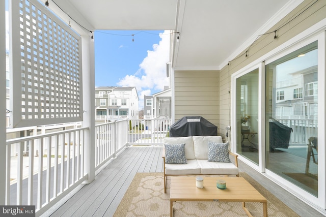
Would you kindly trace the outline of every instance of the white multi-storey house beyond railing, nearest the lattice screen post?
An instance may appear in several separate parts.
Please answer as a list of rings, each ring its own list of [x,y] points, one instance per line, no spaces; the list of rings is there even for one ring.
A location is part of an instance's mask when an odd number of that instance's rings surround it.
[[[96,121],[138,118],[138,94],[135,87],[96,87]]]

